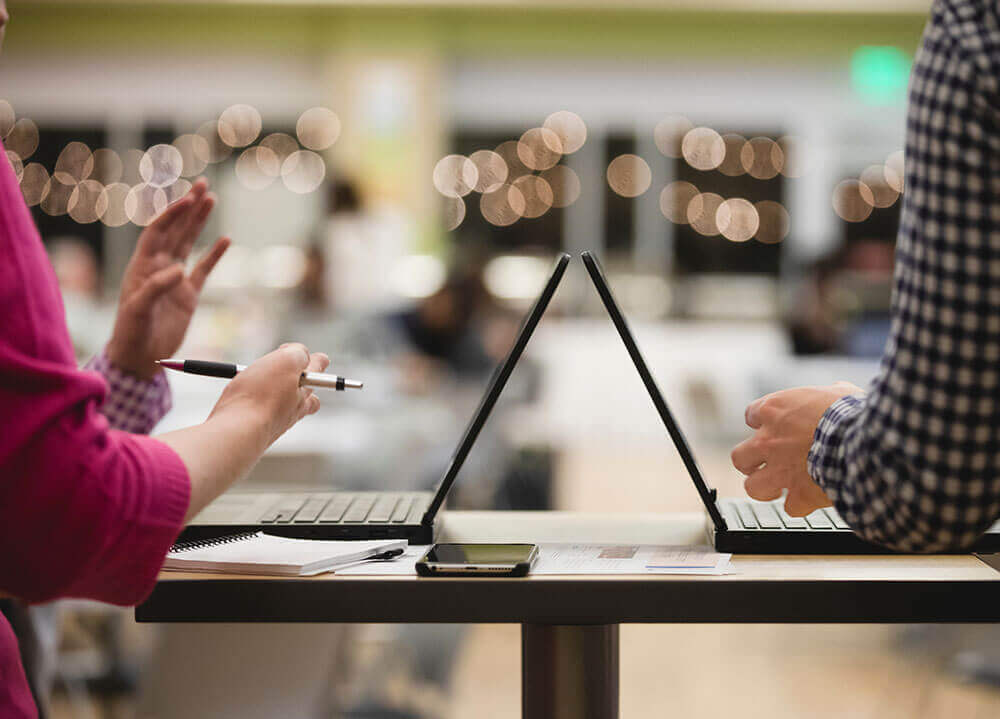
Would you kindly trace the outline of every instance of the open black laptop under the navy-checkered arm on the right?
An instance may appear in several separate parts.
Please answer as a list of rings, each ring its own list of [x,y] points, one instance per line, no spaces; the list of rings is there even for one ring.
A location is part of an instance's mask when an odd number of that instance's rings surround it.
[[[836,510],[818,509],[805,517],[785,512],[784,500],[757,502],[752,499],[719,499],[715,489],[705,482],[690,445],[667,406],[653,379],[625,317],[608,286],[604,271],[590,252],[583,253],[583,263],[597,287],[601,301],[611,315],[618,334],[625,343],[642,383],[660,414],[667,434],[684,462],[707,514],[706,528],[717,551],[740,554],[887,554],[891,550],[870,544],[851,531]],[[1000,522],[994,524],[970,551],[1000,551]]]

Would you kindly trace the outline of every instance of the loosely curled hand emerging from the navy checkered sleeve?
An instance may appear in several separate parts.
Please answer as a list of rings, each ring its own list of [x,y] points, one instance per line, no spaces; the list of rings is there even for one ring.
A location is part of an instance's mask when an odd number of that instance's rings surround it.
[[[746,422],[756,432],[732,453],[733,466],[747,475],[747,494],[769,501],[788,490],[785,511],[793,517],[830,506],[806,469],[809,448],[827,408],[841,397],[862,391],[850,382],[837,382],[829,387],[775,392],[751,402]]]

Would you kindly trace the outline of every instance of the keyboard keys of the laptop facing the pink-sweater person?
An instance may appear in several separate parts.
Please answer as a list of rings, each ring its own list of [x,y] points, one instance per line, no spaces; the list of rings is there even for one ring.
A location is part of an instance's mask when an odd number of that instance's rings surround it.
[[[415,497],[398,494],[295,495],[282,497],[262,524],[403,524]]]

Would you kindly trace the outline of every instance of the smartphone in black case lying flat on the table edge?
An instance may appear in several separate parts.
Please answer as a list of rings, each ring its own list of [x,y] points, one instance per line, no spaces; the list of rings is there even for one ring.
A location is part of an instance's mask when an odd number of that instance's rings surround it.
[[[534,544],[435,544],[417,562],[417,574],[523,577],[537,558]]]

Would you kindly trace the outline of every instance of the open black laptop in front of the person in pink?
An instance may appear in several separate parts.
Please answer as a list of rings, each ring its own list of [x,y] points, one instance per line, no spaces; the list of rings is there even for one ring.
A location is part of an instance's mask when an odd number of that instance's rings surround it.
[[[314,492],[223,494],[203,509],[181,533],[181,541],[211,539],[236,532],[314,539],[407,539],[430,544],[437,515],[455,483],[472,445],[503,392],[538,321],[566,272],[569,255],[556,260],[552,274],[535,300],[507,357],[490,379],[451,462],[435,492]]]

